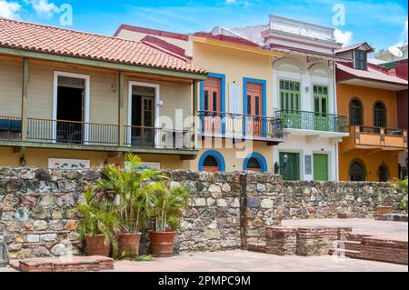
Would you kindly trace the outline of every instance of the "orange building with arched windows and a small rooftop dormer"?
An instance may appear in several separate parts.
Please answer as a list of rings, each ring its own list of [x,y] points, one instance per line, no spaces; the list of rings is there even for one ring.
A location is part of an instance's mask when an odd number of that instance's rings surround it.
[[[350,136],[340,146],[341,180],[397,178],[398,156],[407,156],[407,128],[398,126],[404,124],[398,124],[397,113],[399,92],[407,90],[408,82],[387,67],[368,63],[373,51],[366,43],[336,51],[354,60],[338,64],[336,71],[338,110],[348,115],[350,125]],[[407,119],[407,110],[401,114]]]

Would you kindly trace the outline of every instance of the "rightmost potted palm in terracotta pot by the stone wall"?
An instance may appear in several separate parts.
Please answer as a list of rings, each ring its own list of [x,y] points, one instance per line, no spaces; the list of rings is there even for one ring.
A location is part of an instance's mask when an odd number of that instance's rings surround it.
[[[164,186],[155,191],[152,215],[155,230],[150,231],[150,245],[155,257],[172,256],[175,247],[175,230],[180,225],[183,210],[189,203],[189,192],[182,186]]]

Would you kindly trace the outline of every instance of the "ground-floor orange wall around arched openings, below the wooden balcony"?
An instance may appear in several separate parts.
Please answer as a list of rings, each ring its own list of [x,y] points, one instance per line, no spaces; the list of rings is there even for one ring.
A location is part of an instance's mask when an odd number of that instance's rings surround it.
[[[351,162],[359,158],[364,162],[366,166],[366,180],[367,181],[379,181],[378,179],[378,168],[383,162],[389,167],[389,178],[398,177],[398,156],[392,155],[387,151],[380,151],[374,155],[368,155],[371,150],[355,149],[343,154],[339,157],[339,178],[341,181],[348,181],[349,175],[349,165]]]

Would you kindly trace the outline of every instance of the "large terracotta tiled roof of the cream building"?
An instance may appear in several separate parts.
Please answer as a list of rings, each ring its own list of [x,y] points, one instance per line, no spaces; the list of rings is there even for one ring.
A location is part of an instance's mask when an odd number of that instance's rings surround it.
[[[0,18],[0,46],[195,74],[205,70],[140,42]]]

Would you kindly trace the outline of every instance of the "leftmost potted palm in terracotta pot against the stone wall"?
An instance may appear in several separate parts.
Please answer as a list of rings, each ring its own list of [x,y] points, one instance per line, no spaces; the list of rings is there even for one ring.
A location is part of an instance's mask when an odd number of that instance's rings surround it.
[[[92,187],[85,191],[85,201],[76,206],[80,216],[79,234],[85,240],[86,255],[109,256],[111,245],[116,247],[115,231],[119,223],[114,205],[100,200]]]

